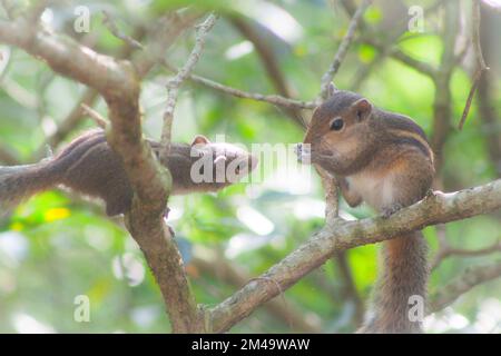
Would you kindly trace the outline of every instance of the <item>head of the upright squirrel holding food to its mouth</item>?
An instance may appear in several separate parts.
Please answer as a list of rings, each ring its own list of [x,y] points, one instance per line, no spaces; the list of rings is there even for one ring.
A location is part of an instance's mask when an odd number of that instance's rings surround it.
[[[308,157],[311,162],[320,164],[330,171],[333,169],[327,162],[342,161],[342,166],[347,167],[356,161],[365,151],[364,147],[371,144],[372,113],[373,106],[364,97],[350,91],[335,91],[313,112],[301,159]],[[336,166],[340,164],[336,162]]]

